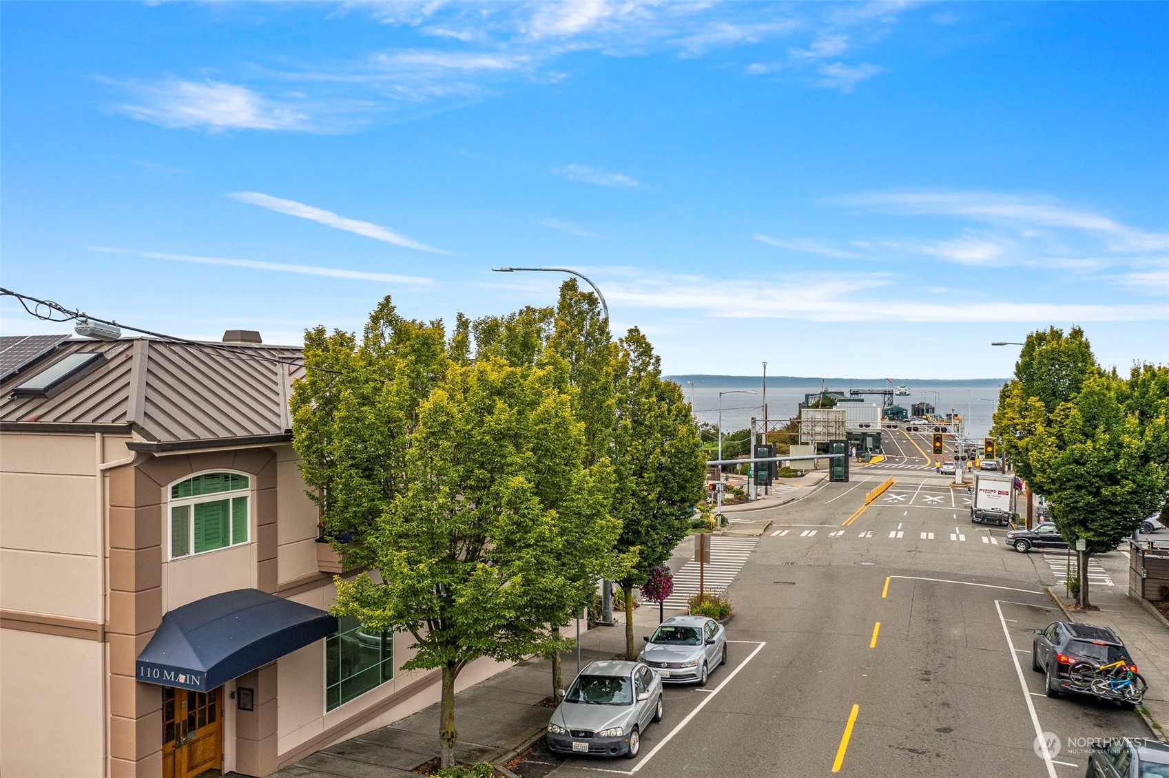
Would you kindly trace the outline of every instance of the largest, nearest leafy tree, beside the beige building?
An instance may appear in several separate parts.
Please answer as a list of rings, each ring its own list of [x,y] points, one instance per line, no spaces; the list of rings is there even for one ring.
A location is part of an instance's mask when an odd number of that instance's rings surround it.
[[[448,345],[440,322],[402,320],[387,298],[360,346],[307,333],[305,361],[325,369],[292,398],[293,445],[326,532],[352,536],[337,548],[376,574],[338,579],[333,612],[409,632],[416,653],[402,667],[442,671],[444,766],[459,672],[545,653],[558,598],[606,568],[620,533],[596,509],[611,468],[584,464],[556,371],[470,361],[473,329],[461,318]]]

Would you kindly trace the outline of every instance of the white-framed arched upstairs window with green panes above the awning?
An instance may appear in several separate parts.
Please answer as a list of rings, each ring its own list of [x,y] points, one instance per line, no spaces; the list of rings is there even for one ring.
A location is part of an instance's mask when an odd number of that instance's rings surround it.
[[[171,558],[247,543],[247,475],[203,473],[171,486]]]

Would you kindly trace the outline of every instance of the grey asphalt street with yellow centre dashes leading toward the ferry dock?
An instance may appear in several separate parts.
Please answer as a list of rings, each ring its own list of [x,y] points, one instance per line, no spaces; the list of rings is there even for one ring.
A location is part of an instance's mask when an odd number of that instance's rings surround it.
[[[752,512],[773,526],[727,589],[731,660],[705,689],[666,689],[636,759],[537,749],[544,769],[524,774],[1064,778],[1084,774],[1087,738],[1148,736],[1112,703],[1046,697],[1031,669],[1033,631],[1060,618],[1043,586],[1063,553],[1018,554],[971,525],[967,492],[894,440],[884,467]],[[1119,585],[1126,564],[1101,557]],[[1058,752],[1037,751],[1042,732]]]

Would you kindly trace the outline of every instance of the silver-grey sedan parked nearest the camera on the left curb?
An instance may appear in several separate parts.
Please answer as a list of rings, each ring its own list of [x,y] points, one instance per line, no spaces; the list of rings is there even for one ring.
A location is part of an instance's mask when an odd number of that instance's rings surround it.
[[[641,662],[592,662],[558,694],[545,734],[553,753],[632,759],[645,728],[662,721],[662,679]]]

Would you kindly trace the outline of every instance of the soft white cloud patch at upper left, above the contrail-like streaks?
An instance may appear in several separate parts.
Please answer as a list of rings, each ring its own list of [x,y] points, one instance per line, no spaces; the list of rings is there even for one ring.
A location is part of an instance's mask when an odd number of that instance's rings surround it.
[[[118,105],[118,111],[164,127],[208,132],[316,128],[302,106],[263,97],[238,84],[172,78],[155,83],[125,82],[120,86],[132,97]]]

